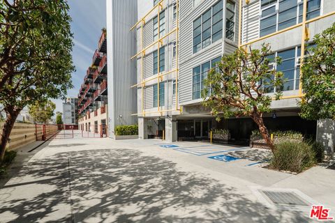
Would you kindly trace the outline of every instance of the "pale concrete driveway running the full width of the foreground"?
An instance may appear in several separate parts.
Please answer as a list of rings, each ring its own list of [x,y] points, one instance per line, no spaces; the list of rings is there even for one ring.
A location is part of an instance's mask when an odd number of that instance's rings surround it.
[[[298,177],[308,180],[308,173],[293,176],[248,166],[263,158],[246,159],[247,153],[257,154],[250,148],[231,151],[234,148],[187,142],[176,148],[161,146],[158,140],[54,140],[0,190],[0,222],[309,221],[308,211],[267,208],[252,189],[291,188],[299,185]],[[184,153],[194,146],[200,150]],[[215,153],[214,147],[221,152]],[[206,149],[215,154],[199,155]],[[208,158],[225,154],[240,159]],[[324,187],[331,185],[322,181]],[[325,197],[308,188],[302,191],[333,205],[334,199],[325,198],[334,197],[332,191]]]

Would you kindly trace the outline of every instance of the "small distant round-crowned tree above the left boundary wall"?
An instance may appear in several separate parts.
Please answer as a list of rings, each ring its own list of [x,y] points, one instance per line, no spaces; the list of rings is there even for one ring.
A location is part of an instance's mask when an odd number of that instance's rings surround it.
[[[29,105],[29,114],[34,119],[34,122],[47,124],[54,116],[54,109],[56,109],[56,105],[51,100],[36,101],[34,105]]]

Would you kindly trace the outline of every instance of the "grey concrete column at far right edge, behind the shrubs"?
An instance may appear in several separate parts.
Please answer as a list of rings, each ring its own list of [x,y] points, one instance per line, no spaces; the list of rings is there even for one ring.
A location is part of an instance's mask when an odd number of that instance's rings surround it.
[[[334,157],[335,121],[320,119],[317,124],[316,141],[320,141],[326,148],[325,154]]]

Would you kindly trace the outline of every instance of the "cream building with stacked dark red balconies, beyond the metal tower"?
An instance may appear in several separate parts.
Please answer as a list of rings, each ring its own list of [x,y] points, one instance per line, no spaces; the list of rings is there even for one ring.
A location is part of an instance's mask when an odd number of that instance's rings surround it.
[[[80,130],[107,132],[107,33],[103,30],[78,94]]]

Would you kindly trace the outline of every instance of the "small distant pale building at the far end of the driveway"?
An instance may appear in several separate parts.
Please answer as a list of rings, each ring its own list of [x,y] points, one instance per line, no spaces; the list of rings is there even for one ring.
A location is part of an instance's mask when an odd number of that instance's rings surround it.
[[[66,98],[63,103],[63,123],[65,125],[78,125],[77,98]]]

